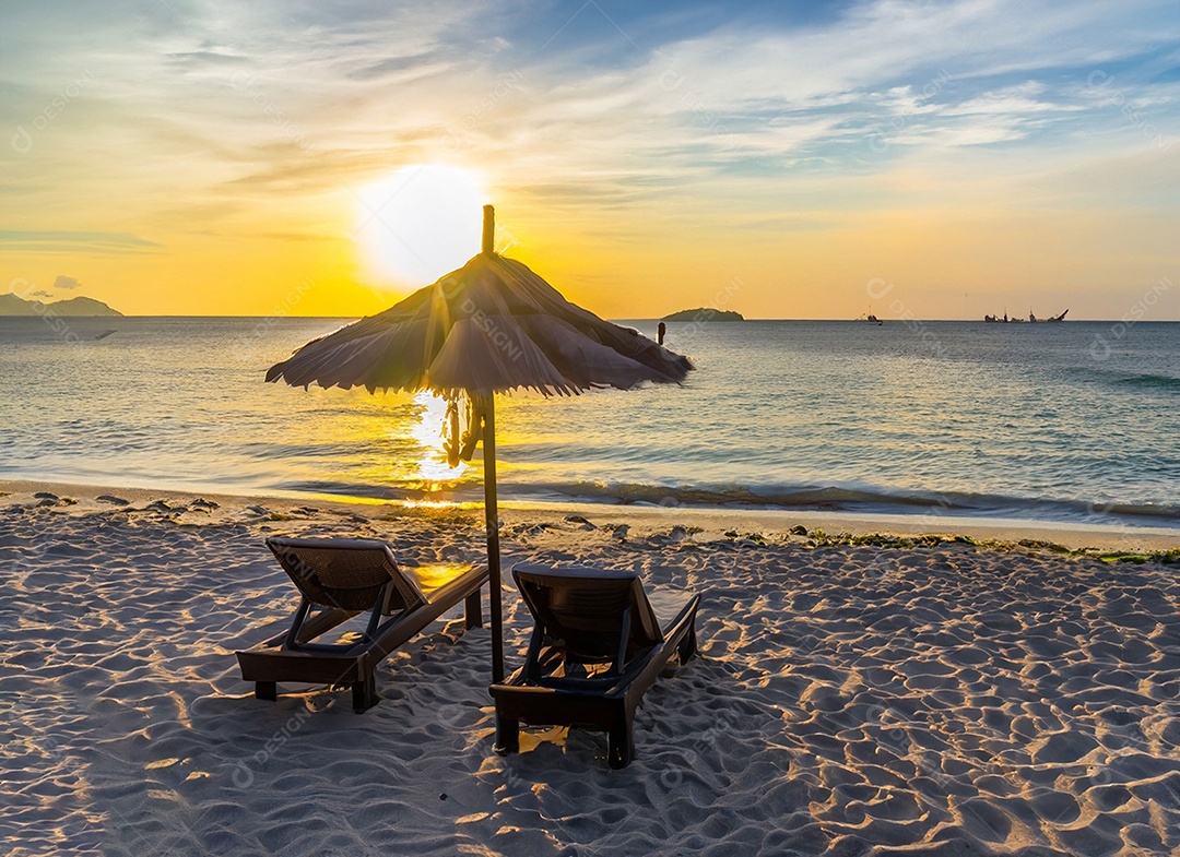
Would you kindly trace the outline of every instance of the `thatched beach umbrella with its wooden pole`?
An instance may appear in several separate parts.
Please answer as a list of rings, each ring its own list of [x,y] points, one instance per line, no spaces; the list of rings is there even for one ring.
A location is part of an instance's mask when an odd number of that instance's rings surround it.
[[[494,394],[542,395],[678,383],[686,357],[635,330],[605,322],[563,298],[519,262],[493,251],[494,220],[484,206],[483,252],[401,303],[314,339],[267,373],[294,387],[432,390],[472,403],[465,444],[484,443],[484,507],[491,576],[492,681],[504,678],[500,543],[496,507]]]

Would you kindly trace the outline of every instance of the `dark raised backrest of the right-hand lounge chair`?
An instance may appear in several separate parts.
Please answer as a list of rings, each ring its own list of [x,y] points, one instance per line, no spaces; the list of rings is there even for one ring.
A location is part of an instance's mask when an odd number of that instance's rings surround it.
[[[537,626],[582,661],[624,662],[663,641],[663,632],[634,572],[517,565],[512,576]],[[625,625],[624,625],[625,622]],[[623,668],[623,664],[617,664]]]

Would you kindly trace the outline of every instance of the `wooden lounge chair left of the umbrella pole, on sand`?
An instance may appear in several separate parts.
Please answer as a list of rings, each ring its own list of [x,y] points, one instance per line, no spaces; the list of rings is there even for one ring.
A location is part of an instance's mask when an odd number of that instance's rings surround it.
[[[466,627],[479,627],[479,589],[487,568],[459,569],[445,581],[424,581],[372,539],[267,539],[267,547],[302,594],[287,633],[237,653],[242,679],[254,696],[274,700],[278,681],[352,685],[353,708],[378,703],[373,672],[386,655],[465,601]],[[319,608],[313,611],[313,608]],[[362,633],[342,641],[323,634],[368,611]]]

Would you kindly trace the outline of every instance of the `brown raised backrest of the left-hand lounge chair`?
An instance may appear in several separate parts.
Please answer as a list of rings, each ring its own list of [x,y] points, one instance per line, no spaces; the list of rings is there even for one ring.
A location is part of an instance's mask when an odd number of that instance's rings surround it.
[[[271,536],[267,547],[299,591],[322,607],[371,609],[391,581],[382,613],[426,604],[418,584],[401,571],[384,541]]]

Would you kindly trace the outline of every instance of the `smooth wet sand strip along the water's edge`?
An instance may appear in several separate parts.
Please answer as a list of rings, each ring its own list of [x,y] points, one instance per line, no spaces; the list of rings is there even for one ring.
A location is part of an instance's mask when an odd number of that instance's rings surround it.
[[[176,490],[163,488],[124,488],[72,482],[0,480],[0,506],[32,502],[33,494],[48,492],[84,502],[83,510],[114,509],[97,497],[119,496],[129,503],[150,503],[155,500],[189,502],[198,497],[215,500],[224,506],[275,506],[289,510],[309,505],[327,506],[341,512],[382,508],[394,516],[414,515],[425,509],[481,514],[478,502],[405,502],[369,497],[328,495],[270,495],[227,494],[219,492]],[[1020,519],[984,519],[966,516],[871,514],[850,512],[820,512],[793,509],[742,509],[721,507],[654,506],[638,503],[599,502],[537,502],[502,500],[500,518],[505,526],[530,523],[551,515],[579,515],[598,521],[618,521],[648,530],[669,527],[690,527],[706,536],[717,538],[733,530],[787,534],[792,527],[802,526],[808,533],[822,530],[826,536],[965,536],[999,543],[1021,541],[1049,542],[1070,551],[1107,551],[1123,553],[1163,552],[1180,548],[1180,529],[1163,527],[1096,526],[1073,522],[1042,522]],[[995,547],[1001,547],[996,545]]]

